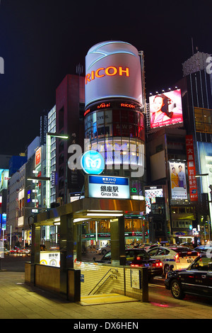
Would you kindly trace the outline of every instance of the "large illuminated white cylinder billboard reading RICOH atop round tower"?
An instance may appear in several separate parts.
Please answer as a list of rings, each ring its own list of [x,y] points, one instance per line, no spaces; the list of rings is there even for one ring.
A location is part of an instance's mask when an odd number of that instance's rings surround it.
[[[127,98],[142,105],[141,62],[133,45],[106,41],[86,55],[86,107],[108,98]]]

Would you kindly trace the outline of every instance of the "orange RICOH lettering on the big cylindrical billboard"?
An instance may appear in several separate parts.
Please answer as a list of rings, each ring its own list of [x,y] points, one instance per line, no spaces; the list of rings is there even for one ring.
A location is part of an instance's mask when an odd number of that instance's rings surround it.
[[[109,66],[107,68],[100,67],[95,71],[86,74],[86,84],[94,80],[95,77],[105,77],[105,75],[108,77],[113,77],[114,75],[119,75],[122,77],[123,74],[125,74],[126,77],[129,77],[129,67],[126,67],[125,69],[123,69],[122,66],[119,66],[119,68],[114,66]]]

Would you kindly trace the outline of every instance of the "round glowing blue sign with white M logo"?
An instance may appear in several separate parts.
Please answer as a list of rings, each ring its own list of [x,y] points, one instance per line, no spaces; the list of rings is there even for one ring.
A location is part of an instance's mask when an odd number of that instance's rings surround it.
[[[103,159],[100,152],[88,150],[83,154],[81,166],[86,174],[101,174],[105,169],[105,159]]]

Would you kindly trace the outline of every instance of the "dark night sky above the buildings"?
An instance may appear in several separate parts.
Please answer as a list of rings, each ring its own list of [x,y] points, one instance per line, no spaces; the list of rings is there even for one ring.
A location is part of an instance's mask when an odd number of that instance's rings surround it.
[[[212,53],[211,0],[1,0],[0,154],[16,154],[40,133],[66,74],[85,69],[93,45],[123,40],[143,50],[147,92],[182,78],[194,52]],[[83,73],[85,74],[85,73]]]

